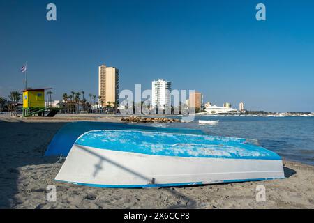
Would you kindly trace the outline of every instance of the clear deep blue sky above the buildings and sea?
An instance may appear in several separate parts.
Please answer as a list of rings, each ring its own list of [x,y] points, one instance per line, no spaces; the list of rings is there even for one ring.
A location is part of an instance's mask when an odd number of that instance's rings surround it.
[[[314,1],[0,0],[1,96],[23,89],[25,61],[29,86],[52,87],[55,100],[97,94],[105,63],[119,68],[120,90],[163,78],[218,105],[314,112]]]

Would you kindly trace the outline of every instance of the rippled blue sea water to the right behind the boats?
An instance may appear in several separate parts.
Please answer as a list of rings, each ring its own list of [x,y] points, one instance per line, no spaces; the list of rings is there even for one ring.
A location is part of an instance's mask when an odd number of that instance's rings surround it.
[[[201,125],[198,120],[220,122],[217,125]],[[225,137],[257,139],[260,146],[287,160],[314,165],[314,117],[195,116],[195,121],[190,123],[163,126],[193,128]]]

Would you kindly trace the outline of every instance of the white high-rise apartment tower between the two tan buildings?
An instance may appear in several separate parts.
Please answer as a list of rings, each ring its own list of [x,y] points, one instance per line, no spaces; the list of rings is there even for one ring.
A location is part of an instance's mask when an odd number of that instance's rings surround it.
[[[151,107],[163,109],[171,105],[171,82],[158,79],[151,82]]]

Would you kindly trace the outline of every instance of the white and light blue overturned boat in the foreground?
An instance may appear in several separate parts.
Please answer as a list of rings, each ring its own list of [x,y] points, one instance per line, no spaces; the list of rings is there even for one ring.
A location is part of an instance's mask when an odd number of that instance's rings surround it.
[[[93,187],[169,187],[284,178],[281,157],[246,139],[145,130],[93,130],[56,180]]]

